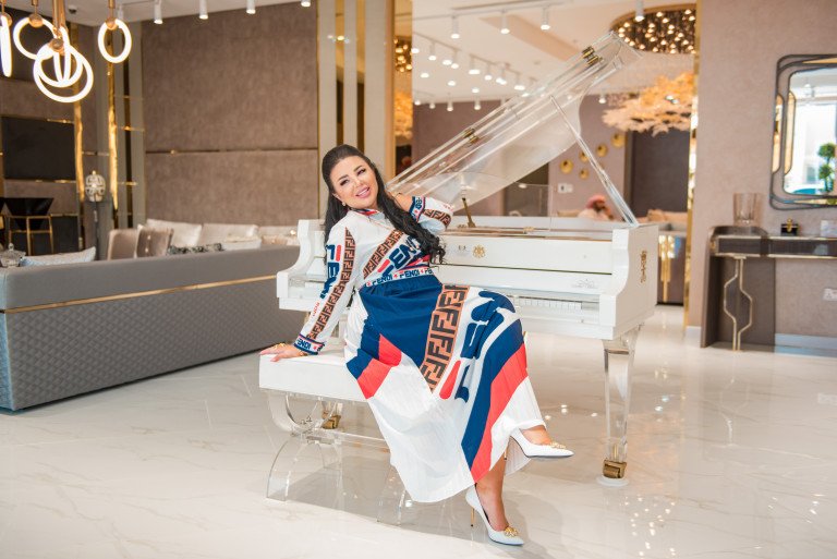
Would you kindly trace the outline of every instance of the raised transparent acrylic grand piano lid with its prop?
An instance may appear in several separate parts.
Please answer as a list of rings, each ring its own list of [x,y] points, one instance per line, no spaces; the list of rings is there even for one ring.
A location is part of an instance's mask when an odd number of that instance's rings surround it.
[[[590,89],[640,58],[609,33],[563,68],[502,104],[387,184],[463,207],[506,189],[578,145],[622,220],[636,219],[581,137],[579,108]],[[591,194],[596,194],[593,191]],[[618,217],[615,215],[615,217]]]

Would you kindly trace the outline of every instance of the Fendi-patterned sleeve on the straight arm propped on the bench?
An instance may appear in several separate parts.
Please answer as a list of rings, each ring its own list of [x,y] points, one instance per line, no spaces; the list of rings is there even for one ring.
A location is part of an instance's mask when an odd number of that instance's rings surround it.
[[[352,299],[355,279],[360,272],[355,258],[355,240],[349,229],[338,223],[326,243],[328,279],[314,305],[311,316],[296,337],[294,347],[311,354],[319,353],[337,326],[340,315]]]

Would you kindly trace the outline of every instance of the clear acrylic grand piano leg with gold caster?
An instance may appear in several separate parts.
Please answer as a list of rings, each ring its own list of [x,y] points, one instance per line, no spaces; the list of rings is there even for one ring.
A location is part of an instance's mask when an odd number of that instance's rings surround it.
[[[605,345],[605,421],[607,423],[607,453],[599,483],[624,485],[628,466],[628,412],[631,402],[631,368],[633,349],[640,328],[633,328]]]

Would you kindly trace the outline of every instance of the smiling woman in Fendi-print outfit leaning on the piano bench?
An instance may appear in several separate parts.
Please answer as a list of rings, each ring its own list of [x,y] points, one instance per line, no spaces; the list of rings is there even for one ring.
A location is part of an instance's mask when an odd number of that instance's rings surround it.
[[[489,537],[522,545],[506,520],[504,475],[530,458],[572,452],[551,441],[541,418],[511,303],[434,277],[429,264],[445,256],[436,234],[451,218],[446,204],[390,196],[372,161],[348,145],[326,154],[323,178],[328,279],[293,347],[262,353],[316,354],[356,290],[347,365],[404,487],[425,502],[466,488]]]

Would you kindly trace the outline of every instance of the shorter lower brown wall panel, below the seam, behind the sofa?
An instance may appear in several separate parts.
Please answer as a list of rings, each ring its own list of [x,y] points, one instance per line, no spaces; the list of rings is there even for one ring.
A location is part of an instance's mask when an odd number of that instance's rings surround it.
[[[148,217],[295,224],[317,215],[317,149],[148,154]]]

